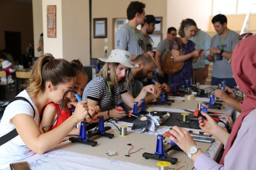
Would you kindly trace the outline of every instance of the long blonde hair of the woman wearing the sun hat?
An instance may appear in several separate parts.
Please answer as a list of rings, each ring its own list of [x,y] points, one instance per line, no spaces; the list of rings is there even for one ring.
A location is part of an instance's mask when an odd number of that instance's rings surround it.
[[[98,74],[99,76],[103,77],[105,81],[109,81],[113,84],[114,87],[117,87],[118,85],[125,83],[126,77],[128,77],[128,80],[131,79],[131,72],[130,72],[130,69],[128,69],[128,74],[125,74],[125,77],[123,77],[123,79],[118,82],[117,75],[115,74],[115,70],[117,69],[117,66],[120,63],[110,63],[110,64],[111,64],[111,67],[109,69],[109,63],[105,63]],[[110,71],[110,73],[108,73],[108,71]]]

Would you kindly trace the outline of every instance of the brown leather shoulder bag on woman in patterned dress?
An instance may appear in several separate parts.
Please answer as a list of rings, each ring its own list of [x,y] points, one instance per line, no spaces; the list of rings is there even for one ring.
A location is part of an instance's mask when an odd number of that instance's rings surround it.
[[[176,37],[177,40],[180,42],[180,56],[183,55],[182,53],[182,40],[179,37]],[[168,48],[166,50],[166,54],[164,56],[162,62],[162,71],[168,75],[173,75],[183,69],[185,61],[175,62],[172,57],[172,53]]]

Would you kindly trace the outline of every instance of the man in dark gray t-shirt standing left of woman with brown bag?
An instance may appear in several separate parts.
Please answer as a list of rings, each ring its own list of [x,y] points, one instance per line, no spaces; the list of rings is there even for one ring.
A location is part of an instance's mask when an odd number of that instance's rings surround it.
[[[173,38],[175,38],[177,35],[177,29],[174,27],[170,27],[167,30],[167,37],[162,40],[156,48],[156,76],[157,81],[159,83],[168,83],[168,74],[165,74],[162,71],[162,61],[164,59],[166,50],[169,48],[170,42],[172,42]]]

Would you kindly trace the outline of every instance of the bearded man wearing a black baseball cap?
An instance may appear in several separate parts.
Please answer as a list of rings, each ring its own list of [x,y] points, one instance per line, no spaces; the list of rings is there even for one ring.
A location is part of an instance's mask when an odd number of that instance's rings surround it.
[[[155,30],[155,24],[159,24],[161,21],[157,21],[154,15],[146,15],[146,19],[143,24],[141,24],[141,37],[144,42],[144,51],[145,52],[153,52],[154,42],[149,34],[153,34]],[[152,54],[153,55],[153,54]]]

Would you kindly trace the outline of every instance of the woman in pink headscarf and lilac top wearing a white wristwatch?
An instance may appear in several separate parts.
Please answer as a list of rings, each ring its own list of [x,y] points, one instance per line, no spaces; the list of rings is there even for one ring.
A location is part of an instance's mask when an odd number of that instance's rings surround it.
[[[256,36],[245,38],[237,44],[232,55],[232,72],[237,85],[245,93],[241,101],[241,114],[237,117],[230,135],[223,136],[225,150],[220,164],[206,156],[201,149],[196,148],[196,143],[188,131],[174,126],[170,133],[176,138],[170,137],[183,151],[191,155],[194,167],[197,170],[234,170],[254,169],[256,167],[256,50],[254,44]],[[200,127],[208,133],[212,133],[217,139],[223,134],[223,129],[217,126],[207,114],[202,113],[208,119],[200,119]],[[227,134],[226,134],[227,135]]]

